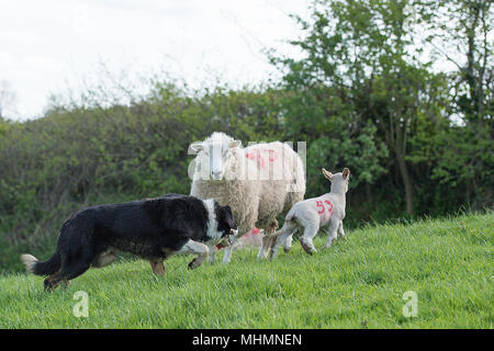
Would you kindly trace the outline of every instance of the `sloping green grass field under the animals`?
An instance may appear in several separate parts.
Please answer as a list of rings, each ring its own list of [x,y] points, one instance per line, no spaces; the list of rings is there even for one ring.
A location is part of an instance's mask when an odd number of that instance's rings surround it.
[[[0,278],[1,328],[492,328],[494,214],[347,233],[313,257],[294,242],[272,262],[255,250],[190,271],[190,257],[93,269],[49,294],[43,279]],[[321,248],[326,235],[315,244]],[[221,254],[218,254],[221,259]],[[89,316],[76,317],[78,291]],[[417,294],[405,317],[403,294]]]

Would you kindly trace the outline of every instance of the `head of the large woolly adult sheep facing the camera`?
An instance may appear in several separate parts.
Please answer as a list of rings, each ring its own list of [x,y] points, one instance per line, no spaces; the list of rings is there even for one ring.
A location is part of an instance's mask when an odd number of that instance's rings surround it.
[[[207,170],[212,180],[222,180],[225,174],[226,160],[229,150],[242,145],[240,140],[235,140],[224,133],[214,132],[204,141],[193,143],[190,148],[199,152],[195,161],[201,168],[202,174]]]

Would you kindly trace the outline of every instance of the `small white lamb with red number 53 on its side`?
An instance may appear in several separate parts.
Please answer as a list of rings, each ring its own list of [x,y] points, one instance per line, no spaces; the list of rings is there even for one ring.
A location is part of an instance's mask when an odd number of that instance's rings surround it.
[[[308,254],[317,251],[312,240],[321,227],[328,225],[326,248],[332,246],[337,233],[341,238],[345,238],[343,219],[345,218],[345,194],[348,191],[350,170],[345,168],[341,173],[336,174],[326,171],[324,168],[322,171],[324,177],[332,182],[330,192],[318,197],[301,201],[290,210],[283,227],[273,234],[278,239],[272,247],[271,259],[276,257],[280,245],[283,245],[285,252],[290,251],[293,234],[300,228],[304,230],[300,242]]]

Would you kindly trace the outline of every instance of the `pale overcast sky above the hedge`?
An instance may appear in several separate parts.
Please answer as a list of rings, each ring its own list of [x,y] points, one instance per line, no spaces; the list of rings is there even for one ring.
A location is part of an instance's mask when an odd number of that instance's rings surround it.
[[[128,75],[166,70],[191,84],[242,84],[274,72],[265,47],[296,38],[308,0],[0,0],[0,81],[14,120],[42,115],[50,93],[80,87],[101,63]],[[296,53],[291,53],[296,55]],[[211,76],[210,76],[211,75]],[[94,78],[94,77],[93,77]]]

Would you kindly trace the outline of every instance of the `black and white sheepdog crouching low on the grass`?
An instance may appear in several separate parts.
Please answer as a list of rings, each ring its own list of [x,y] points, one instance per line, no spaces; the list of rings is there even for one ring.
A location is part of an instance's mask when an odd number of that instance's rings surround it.
[[[209,254],[205,244],[229,245],[236,235],[237,225],[228,206],[220,206],[213,199],[168,194],[75,213],[61,226],[52,258],[41,262],[22,254],[21,260],[29,272],[48,275],[45,290],[54,290],[90,267],[112,263],[119,250],[149,260],[158,275],[165,275],[166,258],[175,253],[198,254],[189,263],[193,269]]]

